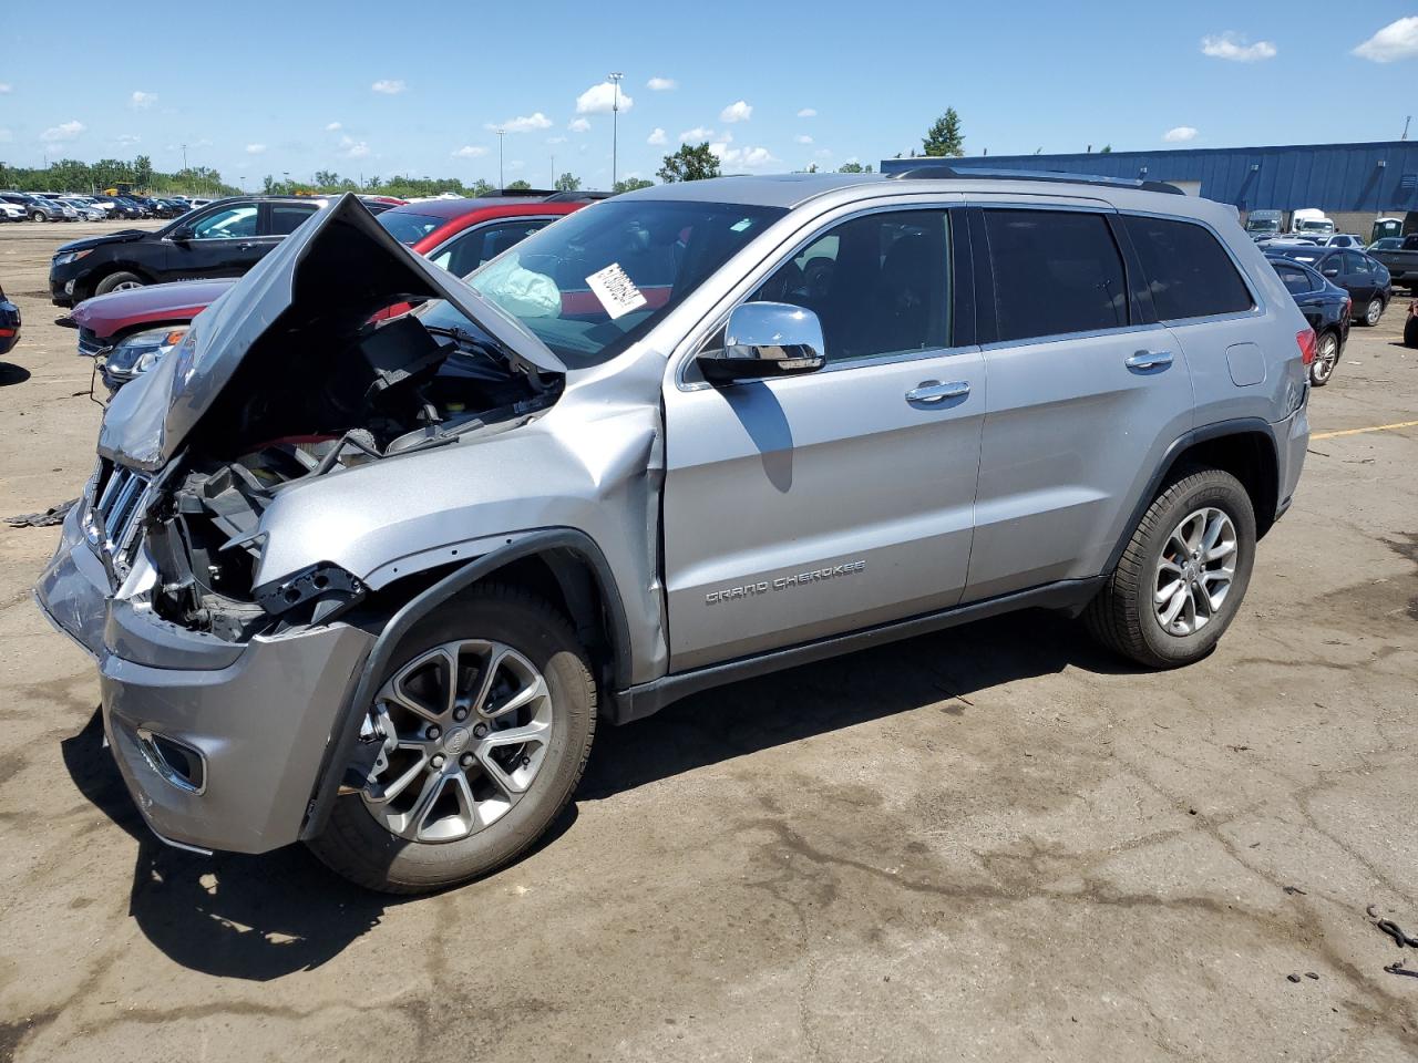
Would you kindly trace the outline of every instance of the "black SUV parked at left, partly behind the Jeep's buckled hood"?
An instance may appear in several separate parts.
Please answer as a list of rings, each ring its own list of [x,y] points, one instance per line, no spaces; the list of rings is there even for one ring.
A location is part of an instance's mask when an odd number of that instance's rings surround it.
[[[50,298],[74,306],[125,288],[241,276],[296,225],[329,201],[313,197],[235,196],[184,214],[155,231],[123,230],[64,244],[50,262]],[[367,201],[373,213],[389,204]]]

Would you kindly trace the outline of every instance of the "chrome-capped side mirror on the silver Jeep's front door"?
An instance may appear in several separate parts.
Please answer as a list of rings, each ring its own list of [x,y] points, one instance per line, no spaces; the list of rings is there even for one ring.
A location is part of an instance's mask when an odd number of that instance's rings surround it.
[[[793,377],[827,364],[822,323],[801,306],[740,303],[723,334],[720,350],[703,350],[695,359],[705,380],[715,384]]]

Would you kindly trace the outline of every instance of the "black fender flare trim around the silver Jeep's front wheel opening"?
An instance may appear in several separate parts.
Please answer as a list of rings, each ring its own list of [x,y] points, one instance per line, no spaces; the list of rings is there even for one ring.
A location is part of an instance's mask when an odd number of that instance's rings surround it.
[[[369,655],[364,658],[354,692],[335,721],[330,741],[325,743],[325,757],[320,763],[320,771],[316,775],[315,791],[311,794],[311,801],[306,805],[305,825],[301,828],[302,840],[315,838],[325,829],[330,809],[335,805],[335,798],[339,794],[342,780],[340,765],[349,761],[350,754],[354,751],[354,743],[359,738],[362,707],[373,699],[380,676],[389,668],[394,651],[410,628],[448,602],[459,591],[467,590],[498,568],[525,557],[536,557],[550,551],[576,554],[590,566],[610,618],[611,629],[608,634],[614,653],[613,669],[615,686],[618,689],[628,685],[631,648],[625,605],[621,601],[610,563],[588,534],[570,527],[532,532],[482,557],[474,558],[398,607],[374,639],[374,645],[370,646]]]

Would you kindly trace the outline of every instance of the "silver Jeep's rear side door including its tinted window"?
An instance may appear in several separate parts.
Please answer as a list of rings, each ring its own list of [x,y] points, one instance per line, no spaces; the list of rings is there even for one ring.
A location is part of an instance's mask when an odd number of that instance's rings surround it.
[[[1193,422],[1187,354],[1134,291],[1112,208],[983,198],[990,395],[967,601],[1099,573]]]

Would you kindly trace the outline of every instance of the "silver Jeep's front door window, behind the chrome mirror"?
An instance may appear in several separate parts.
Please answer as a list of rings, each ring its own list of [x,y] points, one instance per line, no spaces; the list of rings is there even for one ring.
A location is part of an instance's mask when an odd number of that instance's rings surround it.
[[[834,225],[752,296],[813,310],[828,361],[950,346],[950,215],[883,211]]]

